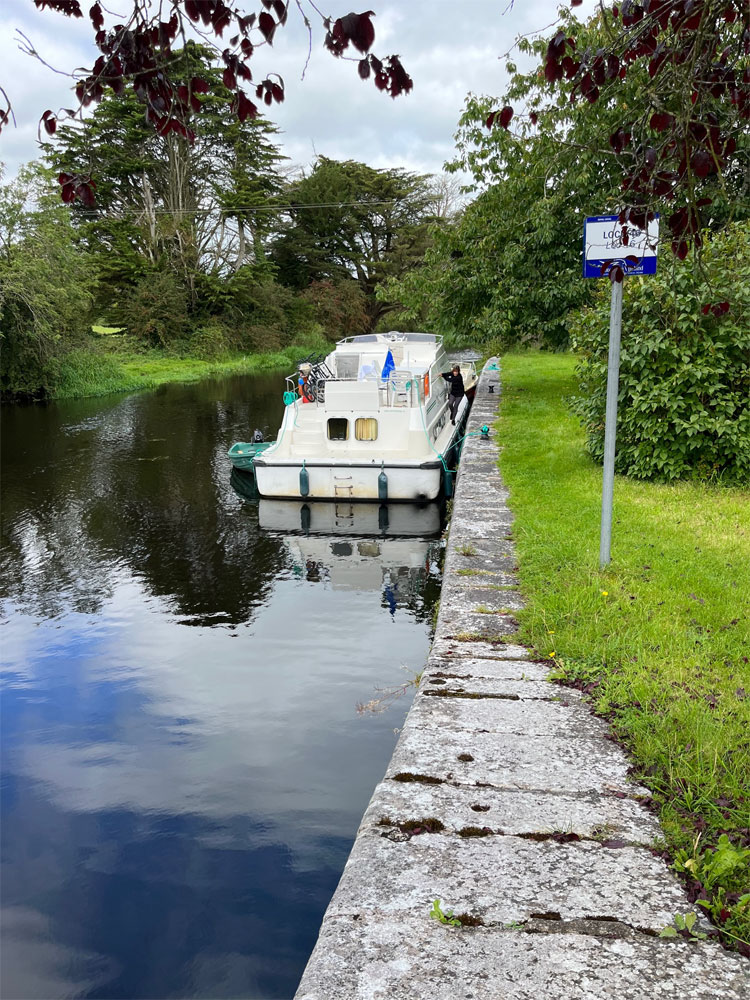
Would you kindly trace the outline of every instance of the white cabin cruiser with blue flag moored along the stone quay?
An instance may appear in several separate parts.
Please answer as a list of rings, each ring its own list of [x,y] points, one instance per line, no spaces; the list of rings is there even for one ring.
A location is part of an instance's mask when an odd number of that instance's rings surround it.
[[[325,360],[301,364],[287,377],[277,440],[254,456],[258,493],[436,499],[476,386],[473,364],[462,362],[467,395],[452,423],[449,387],[441,377],[451,367],[442,338],[428,333],[349,337]]]

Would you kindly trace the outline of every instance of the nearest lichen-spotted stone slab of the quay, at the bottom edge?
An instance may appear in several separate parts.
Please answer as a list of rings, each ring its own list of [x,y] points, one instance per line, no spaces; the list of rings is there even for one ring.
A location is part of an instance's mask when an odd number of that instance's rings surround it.
[[[557,932],[556,932],[557,930]],[[363,914],[326,919],[325,961],[308,966],[297,1000],[737,1000],[747,980],[710,944],[539,922],[534,932]]]

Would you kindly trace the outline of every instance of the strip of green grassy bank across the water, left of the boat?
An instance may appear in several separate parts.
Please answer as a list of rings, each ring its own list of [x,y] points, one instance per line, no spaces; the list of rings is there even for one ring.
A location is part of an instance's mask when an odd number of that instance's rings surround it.
[[[292,344],[274,353],[236,354],[219,360],[182,357],[157,350],[143,353],[130,350],[127,345],[99,351],[71,351],[61,359],[52,398],[103,396],[110,392],[153,389],[164,382],[197,382],[222,375],[291,370],[300,358],[330,348],[330,344],[315,340]]]

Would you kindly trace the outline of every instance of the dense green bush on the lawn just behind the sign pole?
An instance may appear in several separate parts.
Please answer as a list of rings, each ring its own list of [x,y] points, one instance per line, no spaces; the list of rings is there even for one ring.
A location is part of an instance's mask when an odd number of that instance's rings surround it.
[[[608,289],[607,289],[608,290]],[[604,452],[609,298],[575,317],[581,416]],[[618,472],[750,482],[750,223],[709,240],[700,263],[662,260],[623,301]]]

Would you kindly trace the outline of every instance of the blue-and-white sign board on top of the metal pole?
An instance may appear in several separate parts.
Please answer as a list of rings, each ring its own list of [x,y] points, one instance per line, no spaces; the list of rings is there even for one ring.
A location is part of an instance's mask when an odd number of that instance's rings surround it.
[[[626,274],[656,274],[658,241],[658,215],[648,230],[622,223],[616,215],[590,216],[583,226],[583,276],[602,278],[608,264],[619,264]],[[628,257],[637,257],[638,263]]]

